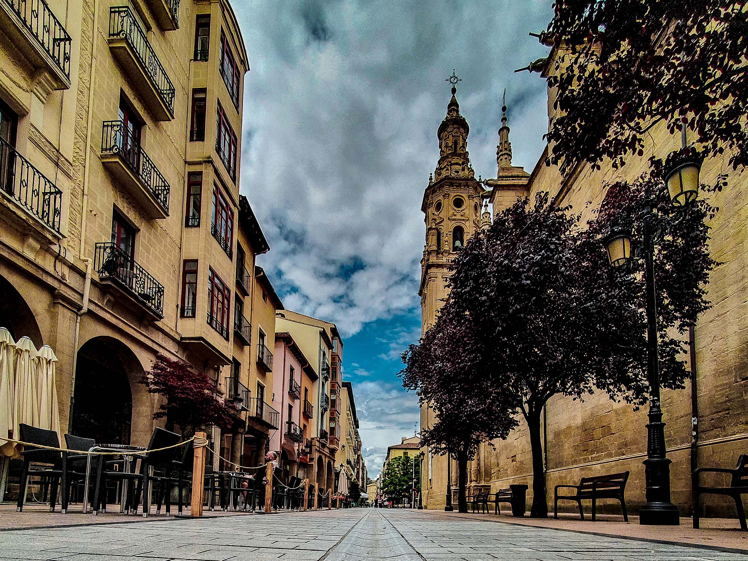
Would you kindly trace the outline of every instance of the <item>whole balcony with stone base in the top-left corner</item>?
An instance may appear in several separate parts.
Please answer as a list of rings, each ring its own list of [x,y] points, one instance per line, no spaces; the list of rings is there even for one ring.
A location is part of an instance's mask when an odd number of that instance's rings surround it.
[[[42,101],[70,88],[72,40],[44,0],[0,0],[0,29],[33,65],[34,93]]]

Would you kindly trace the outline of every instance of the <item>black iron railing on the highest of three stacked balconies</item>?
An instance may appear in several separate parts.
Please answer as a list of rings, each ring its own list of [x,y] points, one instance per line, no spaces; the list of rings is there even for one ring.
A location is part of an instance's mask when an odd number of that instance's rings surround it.
[[[166,75],[166,70],[153,51],[129,6],[112,6],[109,8],[109,37],[122,37],[132,46],[135,56],[143,65],[153,87],[159,92],[164,104],[174,113],[174,84]]]

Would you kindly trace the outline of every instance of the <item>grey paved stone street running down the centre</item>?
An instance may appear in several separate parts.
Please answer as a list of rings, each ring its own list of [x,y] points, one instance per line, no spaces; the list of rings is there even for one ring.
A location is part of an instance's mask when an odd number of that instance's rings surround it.
[[[6,530],[0,559],[748,561],[748,555],[437,512],[352,509]]]

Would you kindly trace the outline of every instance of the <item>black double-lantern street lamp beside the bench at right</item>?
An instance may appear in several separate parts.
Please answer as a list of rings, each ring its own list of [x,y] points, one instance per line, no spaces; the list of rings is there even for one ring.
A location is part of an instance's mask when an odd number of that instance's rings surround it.
[[[685,143],[684,143],[685,145]],[[665,170],[665,183],[673,206],[684,207],[699,192],[699,159],[687,156]],[[643,216],[643,257],[646,278],[647,378],[649,381],[649,423],[647,459],[644,461],[646,503],[640,510],[640,524],[677,526],[678,507],[670,502],[670,460],[665,449],[665,423],[660,408],[660,370],[657,359],[657,301],[654,292],[654,213],[647,206]],[[631,259],[631,233],[617,230],[605,239],[608,263],[625,269]]]

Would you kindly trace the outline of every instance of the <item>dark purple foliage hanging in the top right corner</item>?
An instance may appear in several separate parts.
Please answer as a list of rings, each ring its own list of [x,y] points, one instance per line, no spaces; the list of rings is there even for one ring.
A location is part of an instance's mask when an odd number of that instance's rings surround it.
[[[741,0],[556,0],[541,36],[563,49],[548,163],[623,165],[657,123],[685,122],[704,156],[746,165],[747,28]]]

